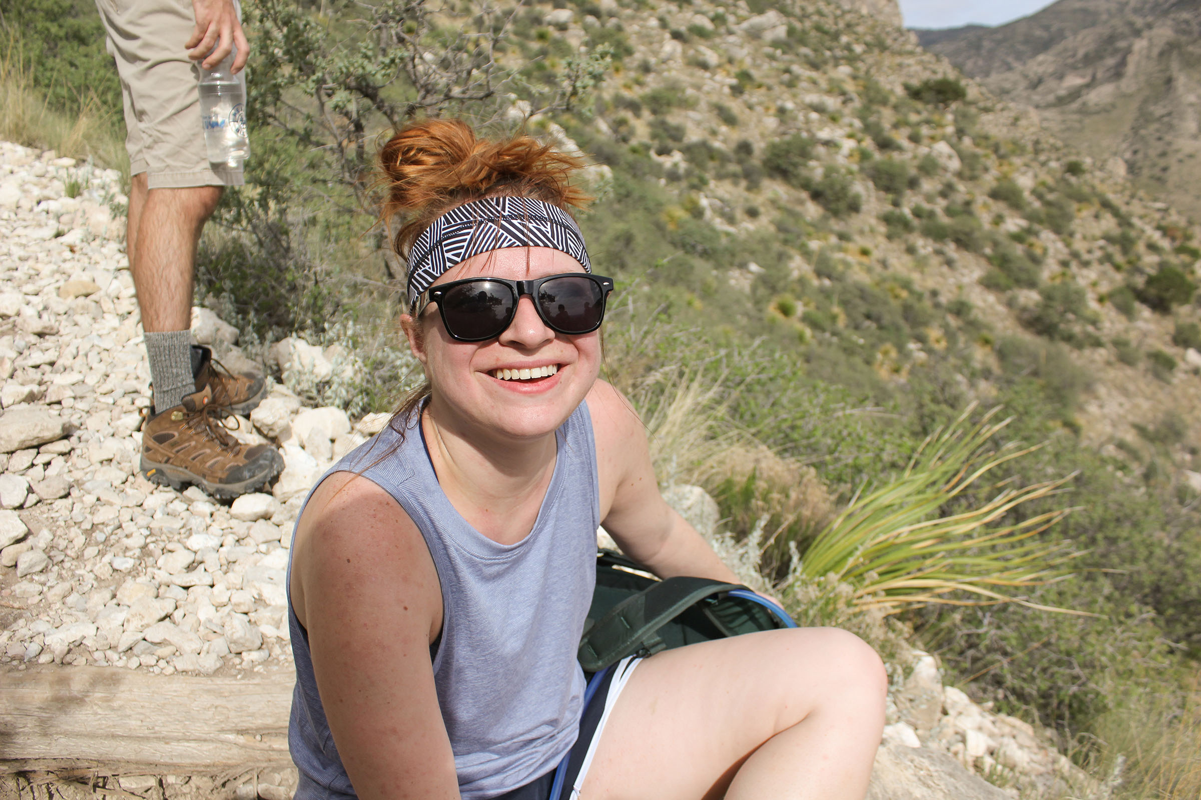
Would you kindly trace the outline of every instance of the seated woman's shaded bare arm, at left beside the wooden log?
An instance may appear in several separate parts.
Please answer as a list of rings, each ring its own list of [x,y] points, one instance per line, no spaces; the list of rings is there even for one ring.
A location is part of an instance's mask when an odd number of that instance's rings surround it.
[[[375,483],[335,473],[309,501],[293,547],[293,606],[355,793],[459,798],[430,663],[442,595],[417,525]]]

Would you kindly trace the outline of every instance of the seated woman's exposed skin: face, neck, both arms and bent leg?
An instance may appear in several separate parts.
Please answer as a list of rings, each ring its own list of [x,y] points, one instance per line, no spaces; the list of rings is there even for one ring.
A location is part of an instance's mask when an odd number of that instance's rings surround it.
[[[513,248],[464,261],[438,282],[580,269],[557,251]],[[422,425],[438,483],[480,534],[512,543],[530,533],[554,471],[555,429],[586,398],[600,516],[621,548],[659,577],[737,582],[663,501],[645,428],[628,401],[597,379],[598,333],[551,331],[528,297],[490,342],[455,342],[434,308],[401,324],[434,387]],[[531,363],[560,369],[537,385],[491,374]],[[336,473],[309,501],[292,558],[291,599],[357,794],[458,798],[429,657],[442,627],[442,596],[420,531],[387,492]],[[880,741],[885,688],[871,648],[831,628],[657,654],[616,702],[584,796],[861,799]]]

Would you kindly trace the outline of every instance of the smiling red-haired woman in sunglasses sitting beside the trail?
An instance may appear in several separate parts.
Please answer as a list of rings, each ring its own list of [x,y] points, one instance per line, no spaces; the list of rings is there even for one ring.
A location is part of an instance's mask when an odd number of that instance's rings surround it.
[[[562,798],[862,798],[886,678],[843,631],[626,658],[581,714],[598,525],[663,578],[737,579],[597,378],[613,282],[568,212],[579,164],[448,120],[381,158],[428,384],[297,525],[297,799],[546,800],[568,754]]]

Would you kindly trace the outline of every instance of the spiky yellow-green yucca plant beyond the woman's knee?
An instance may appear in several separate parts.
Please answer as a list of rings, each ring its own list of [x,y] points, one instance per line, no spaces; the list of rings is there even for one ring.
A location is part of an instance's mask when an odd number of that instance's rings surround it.
[[[973,425],[974,408],[927,438],[900,477],[856,493],[799,558],[790,581],[849,584],[859,608],[884,614],[926,603],[999,602],[1082,614],[1014,594],[1066,578],[1069,563],[1081,555],[1065,542],[1039,537],[1071,509],[1024,518],[1012,513],[1063,492],[1072,475],[1020,488],[999,481],[991,500],[943,516],[949,503],[982,485],[992,470],[1041,446],[996,447],[992,439],[1009,420],[994,422],[994,408]]]

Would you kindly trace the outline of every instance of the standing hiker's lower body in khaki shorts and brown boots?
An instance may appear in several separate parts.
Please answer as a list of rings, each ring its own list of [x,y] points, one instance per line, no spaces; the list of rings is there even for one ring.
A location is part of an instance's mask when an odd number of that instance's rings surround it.
[[[191,1],[96,6],[121,78],[133,174],[126,243],[155,410],[142,432],[142,470],[172,486],[235,497],[282,469],[274,447],[240,444],[219,419],[257,405],[265,381],[219,369],[208,348],[191,345],[189,329],[201,230],[222,187],[243,184],[241,169],[208,161],[199,73],[185,49],[196,23]]]

